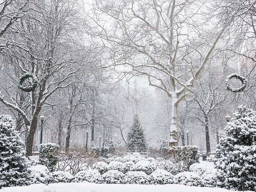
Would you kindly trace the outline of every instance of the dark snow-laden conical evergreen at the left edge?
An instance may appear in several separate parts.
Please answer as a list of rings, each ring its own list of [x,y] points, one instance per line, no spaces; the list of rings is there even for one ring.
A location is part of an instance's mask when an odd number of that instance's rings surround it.
[[[26,185],[26,151],[15,123],[9,115],[0,116],[0,188]]]

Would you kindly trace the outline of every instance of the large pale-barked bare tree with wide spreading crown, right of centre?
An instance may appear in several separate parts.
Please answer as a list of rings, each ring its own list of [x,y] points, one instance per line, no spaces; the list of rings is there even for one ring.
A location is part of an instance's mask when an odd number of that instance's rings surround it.
[[[225,25],[213,39],[202,37],[199,1],[96,0],[93,5],[88,17],[98,26],[93,35],[109,48],[107,67],[121,65],[132,75],[145,75],[149,85],[172,99],[170,145],[177,145],[178,105],[192,92]]]

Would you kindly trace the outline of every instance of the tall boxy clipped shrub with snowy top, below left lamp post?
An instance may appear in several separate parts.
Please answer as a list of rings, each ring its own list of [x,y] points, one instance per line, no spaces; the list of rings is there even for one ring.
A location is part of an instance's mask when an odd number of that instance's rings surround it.
[[[55,170],[58,162],[58,151],[60,146],[56,143],[42,143],[39,145],[39,163],[45,165],[50,171]]]

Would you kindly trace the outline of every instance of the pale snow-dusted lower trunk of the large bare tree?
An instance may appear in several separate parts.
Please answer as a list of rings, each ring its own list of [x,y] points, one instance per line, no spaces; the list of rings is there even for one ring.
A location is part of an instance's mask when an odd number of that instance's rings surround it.
[[[174,93],[173,95],[176,95]],[[177,146],[178,145],[178,103],[176,103],[177,97],[172,97],[172,114],[171,114],[171,125],[170,125],[170,146]]]

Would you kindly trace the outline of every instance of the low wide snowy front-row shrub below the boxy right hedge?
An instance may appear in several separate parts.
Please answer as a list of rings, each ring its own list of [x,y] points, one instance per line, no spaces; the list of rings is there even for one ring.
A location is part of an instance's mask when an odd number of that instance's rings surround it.
[[[194,172],[181,172],[174,176],[174,184],[183,184],[188,186],[200,186],[201,177]]]

